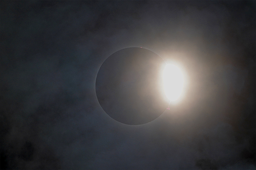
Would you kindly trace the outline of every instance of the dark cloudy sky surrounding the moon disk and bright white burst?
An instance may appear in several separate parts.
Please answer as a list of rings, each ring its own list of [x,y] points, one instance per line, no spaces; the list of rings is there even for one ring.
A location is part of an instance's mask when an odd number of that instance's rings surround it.
[[[1,1],[1,169],[255,169],[255,1]],[[101,64],[143,47],[180,62],[153,122],[101,108]]]

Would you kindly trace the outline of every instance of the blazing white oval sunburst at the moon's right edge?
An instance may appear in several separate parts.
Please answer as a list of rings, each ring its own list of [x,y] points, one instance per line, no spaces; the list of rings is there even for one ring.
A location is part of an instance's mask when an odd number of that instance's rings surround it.
[[[177,103],[184,93],[185,75],[176,63],[165,64],[162,71],[163,93],[168,102]]]

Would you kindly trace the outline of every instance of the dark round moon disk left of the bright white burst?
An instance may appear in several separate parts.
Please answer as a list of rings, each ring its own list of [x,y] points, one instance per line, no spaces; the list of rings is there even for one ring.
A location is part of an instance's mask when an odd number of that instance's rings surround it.
[[[103,110],[127,125],[141,125],[159,117],[166,106],[160,81],[164,61],[152,51],[124,48],[107,58],[96,79]]]

